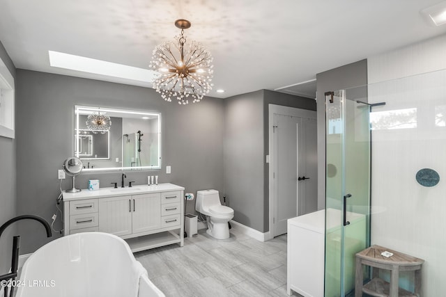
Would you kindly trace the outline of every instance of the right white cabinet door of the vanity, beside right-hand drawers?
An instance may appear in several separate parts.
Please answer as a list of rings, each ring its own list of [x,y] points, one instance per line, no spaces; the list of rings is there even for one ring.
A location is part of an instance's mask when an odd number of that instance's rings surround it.
[[[133,233],[141,233],[161,227],[161,195],[151,193],[133,195]]]

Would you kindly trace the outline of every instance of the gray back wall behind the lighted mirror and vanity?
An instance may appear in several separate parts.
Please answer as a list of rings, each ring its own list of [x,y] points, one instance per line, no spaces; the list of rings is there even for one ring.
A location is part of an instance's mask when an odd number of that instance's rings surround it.
[[[164,102],[151,88],[29,70],[17,70],[16,88],[18,214],[37,214],[51,222],[56,213],[56,170],[73,154],[76,104],[162,113],[162,170],[126,172],[127,180],[146,184],[147,175],[159,175],[160,182],[184,186],[187,192],[206,188],[223,191],[222,99],[208,97],[199,104],[180,106]],[[53,145],[48,147],[48,142]],[[165,174],[168,165],[170,175]],[[100,185],[106,187],[120,182],[121,173],[82,173],[76,179],[77,187],[86,188],[89,179],[100,179]],[[63,189],[69,187],[70,179],[64,180]],[[187,212],[193,211],[194,203],[188,202]],[[61,229],[59,218],[54,226]],[[20,223],[21,254],[51,240],[38,228],[33,222]]]

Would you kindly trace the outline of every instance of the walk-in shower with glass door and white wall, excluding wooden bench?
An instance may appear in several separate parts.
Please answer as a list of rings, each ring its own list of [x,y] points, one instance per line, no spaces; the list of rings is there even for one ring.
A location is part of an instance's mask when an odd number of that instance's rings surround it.
[[[446,71],[330,91],[325,105],[325,297],[353,296],[355,253],[372,244],[424,259],[421,296],[446,296]]]

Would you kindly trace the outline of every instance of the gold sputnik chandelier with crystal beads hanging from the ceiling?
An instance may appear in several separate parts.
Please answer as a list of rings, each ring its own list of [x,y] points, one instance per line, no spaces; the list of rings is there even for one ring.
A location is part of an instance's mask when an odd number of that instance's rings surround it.
[[[153,50],[149,67],[159,73],[153,80],[153,88],[167,102],[176,97],[178,104],[199,102],[212,89],[213,58],[200,42],[186,42],[184,29],[190,28],[190,22],[177,19],[175,26],[181,29],[181,35],[175,36],[175,42],[168,41]]]

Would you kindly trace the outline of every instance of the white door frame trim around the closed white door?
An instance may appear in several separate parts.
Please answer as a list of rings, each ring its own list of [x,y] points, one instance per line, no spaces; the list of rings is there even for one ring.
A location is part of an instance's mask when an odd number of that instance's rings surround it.
[[[274,168],[275,168],[275,151],[274,151],[274,115],[289,115],[298,118],[314,118],[316,119],[316,111],[310,111],[308,109],[298,109],[290,106],[282,106],[276,104],[268,104],[268,158],[269,158],[269,178],[268,178],[268,186],[269,186],[269,234],[270,239],[273,239],[274,234],[274,212],[275,212],[275,182],[274,182]],[[268,159],[267,158],[267,159]],[[268,163],[268,161],[267,161]],[[297,170],[297,168],[296,168]],[[316,197],[317,198],[317,197]]]

